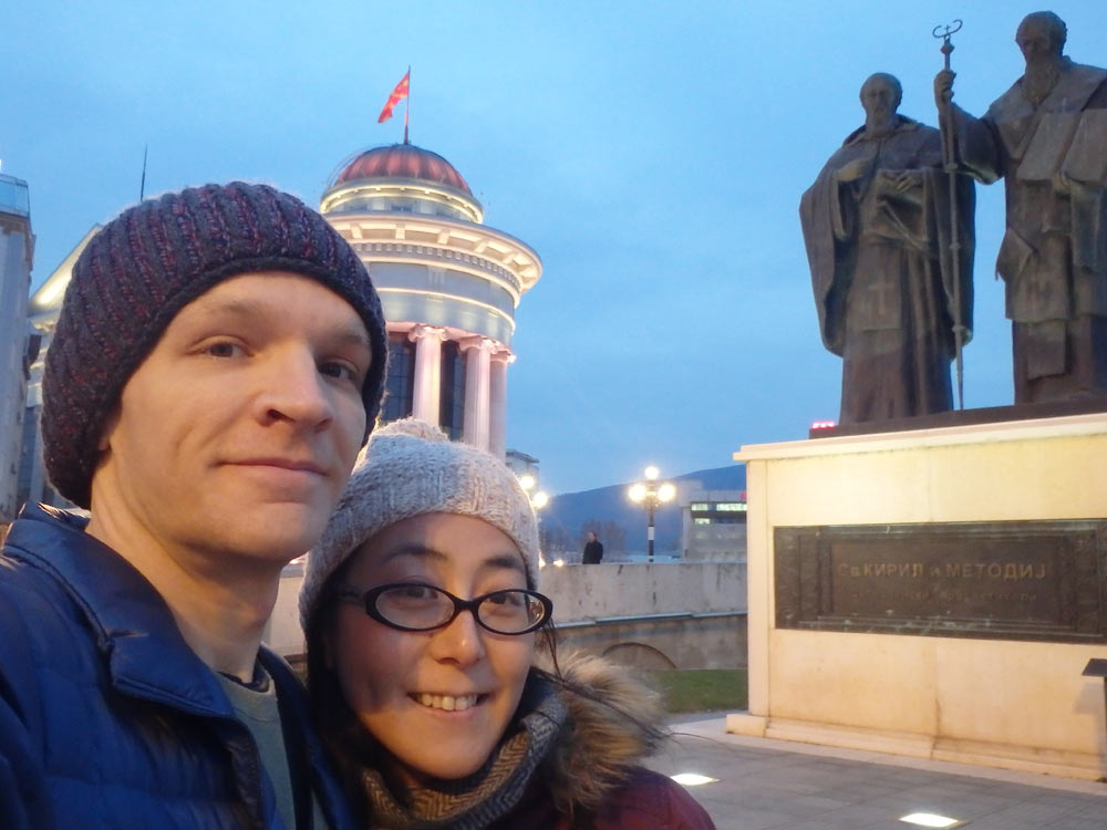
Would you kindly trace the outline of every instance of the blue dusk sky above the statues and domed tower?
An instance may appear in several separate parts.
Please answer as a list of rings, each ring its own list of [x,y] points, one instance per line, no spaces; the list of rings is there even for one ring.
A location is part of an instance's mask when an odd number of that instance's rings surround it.
[[[954,18],[956,101],[1022,74],[1010,0],[240,2],[0,6],[0,159],[27,180],[33,286],[146,195],[235,178],[312,206],[412,68],[411,139],[447,158],[485,221],[530,245],[507,444],[550,492],[731,463],[837,418],[800,194],[863,120],[877,71],[937,123],[931,30]],[[1057,1],[1066,53],[1107,65],[1104,0]],[[965,405],[1012,403],[993,278],[1003,186],[977,188]]]

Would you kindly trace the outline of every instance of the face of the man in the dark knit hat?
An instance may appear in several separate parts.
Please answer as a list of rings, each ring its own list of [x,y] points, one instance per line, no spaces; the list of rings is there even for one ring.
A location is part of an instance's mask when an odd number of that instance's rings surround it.
[[[219,283],[123,387],[94,518],[170,552],[300,556],[353,467],[371,361],[361,318],[320,283],[280,271]]]

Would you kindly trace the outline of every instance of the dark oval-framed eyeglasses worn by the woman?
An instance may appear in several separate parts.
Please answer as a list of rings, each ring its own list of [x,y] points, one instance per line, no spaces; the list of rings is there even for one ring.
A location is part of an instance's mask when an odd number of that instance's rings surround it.
[[[422,582],[387,582],[369,591],[340,590],[338,599],[364,608],[380,623],[400,631],[434,631],[449,625],[463,611],[495,634],[526,634],[554,613],[549,596],[523,588],[492,591],[463,600]]]

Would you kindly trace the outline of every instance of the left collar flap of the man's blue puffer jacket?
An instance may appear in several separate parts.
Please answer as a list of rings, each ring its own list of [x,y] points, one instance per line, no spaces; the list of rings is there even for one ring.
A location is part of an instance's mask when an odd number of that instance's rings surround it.
[[[112,685],[179,709],[234,717],[210,668],[182,637],[161,594],[134,567],[85,532],[87,519],[28,505],[6,553],[45,571],[81,609]]]

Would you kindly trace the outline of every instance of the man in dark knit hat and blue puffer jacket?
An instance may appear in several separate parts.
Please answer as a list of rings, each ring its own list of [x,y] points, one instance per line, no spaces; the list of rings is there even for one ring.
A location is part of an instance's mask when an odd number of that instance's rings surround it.
[[[51,480],[0,557],[0,827],[349,826],[260,646],[380,405],[384,321],[327,222],[208,185],[110,222],[43,377]]]

